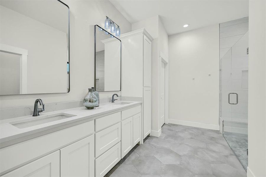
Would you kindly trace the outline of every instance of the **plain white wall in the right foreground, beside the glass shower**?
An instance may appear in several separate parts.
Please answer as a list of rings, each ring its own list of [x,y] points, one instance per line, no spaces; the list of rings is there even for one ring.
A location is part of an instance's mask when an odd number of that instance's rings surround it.
[[[249,1],[247,176],[266,176],[266,1]]]

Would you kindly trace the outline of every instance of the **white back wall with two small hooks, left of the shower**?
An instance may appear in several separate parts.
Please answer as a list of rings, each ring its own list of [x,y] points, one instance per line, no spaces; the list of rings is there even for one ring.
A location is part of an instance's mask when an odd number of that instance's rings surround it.
[[[219,25],[169,36],[169,123],[218,130],[218,117]]]

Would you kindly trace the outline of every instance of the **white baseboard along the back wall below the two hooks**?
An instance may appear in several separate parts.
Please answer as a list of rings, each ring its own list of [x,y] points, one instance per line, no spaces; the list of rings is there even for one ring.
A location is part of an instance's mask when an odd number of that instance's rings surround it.
[[[179,124],[179,125],[186,125],[191,127],[198,127],[198,128],[207,128],[211,130],[219,130],[219,125],[213,125],[213,124],[204,124],[199,122],[189,122],[184,120],[175,120],[175,119],[168,119],[169,123],[171,124]]]

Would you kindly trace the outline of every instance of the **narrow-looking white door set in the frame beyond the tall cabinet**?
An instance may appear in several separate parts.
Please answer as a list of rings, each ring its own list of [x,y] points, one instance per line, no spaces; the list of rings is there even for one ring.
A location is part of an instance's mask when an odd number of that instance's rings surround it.
[[[161,126],[164,124],[165,120],[165,64],[161,62],[161,78],[160,78],[160,118],[161,118]]]

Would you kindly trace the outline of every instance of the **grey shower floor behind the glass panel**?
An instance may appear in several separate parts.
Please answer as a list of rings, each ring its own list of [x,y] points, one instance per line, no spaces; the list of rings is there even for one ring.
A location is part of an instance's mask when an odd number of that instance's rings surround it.
[[[223,132],[223,136],[226,141],[230,145],[230,147],[236,153],[236,156],[239,158],[240,162],[247,170],[248,165],[248,156],[247,156],[247,148],[248,148],[248,135],[241,133],[231,133],[231,132]]]

